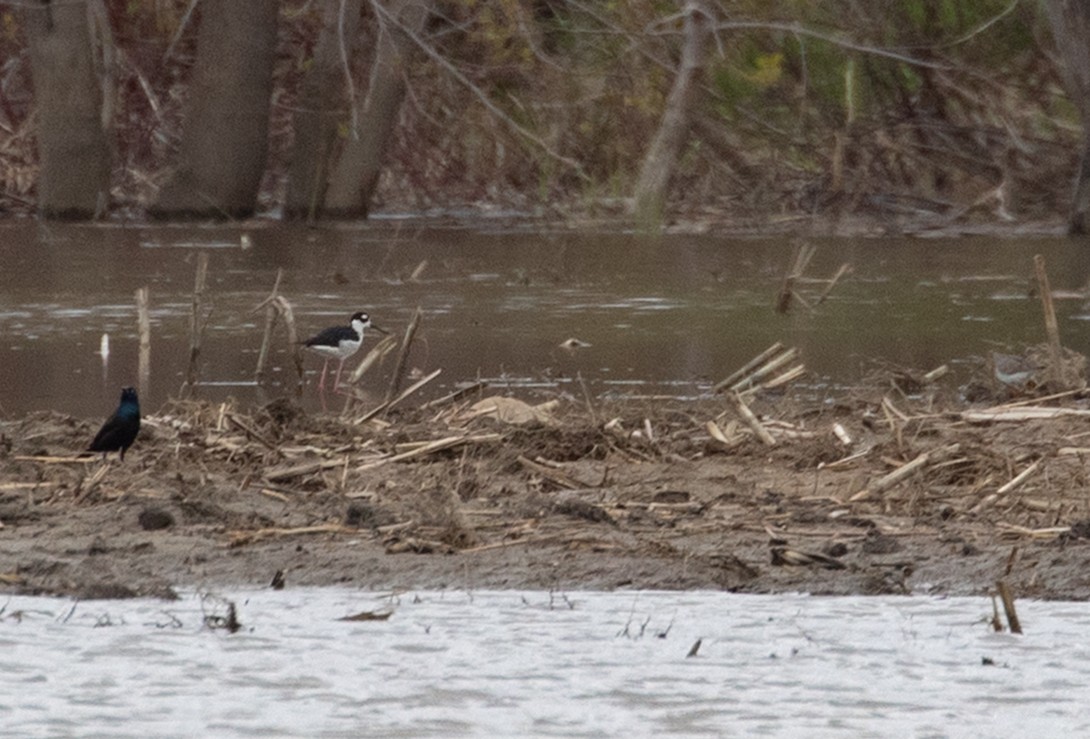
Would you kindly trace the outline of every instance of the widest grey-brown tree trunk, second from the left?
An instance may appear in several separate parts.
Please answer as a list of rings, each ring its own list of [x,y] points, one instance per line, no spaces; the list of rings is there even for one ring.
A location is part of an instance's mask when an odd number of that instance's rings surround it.
[[[160,218],[244,218],[268,154],[277,0],[205,0],[185,131],[173,175],[150,208]]]

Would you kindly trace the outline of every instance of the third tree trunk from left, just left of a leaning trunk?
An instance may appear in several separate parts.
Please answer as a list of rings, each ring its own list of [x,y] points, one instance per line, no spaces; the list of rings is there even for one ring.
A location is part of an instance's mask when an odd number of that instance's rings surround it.
[[[314,220],[325,201],[334,145],[346,109],[349,61],[358,46],[362,0],[326,0],[314,60],[299,95],[293,117],[295,141],[288,165],[284,218]]]

